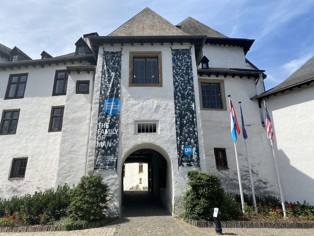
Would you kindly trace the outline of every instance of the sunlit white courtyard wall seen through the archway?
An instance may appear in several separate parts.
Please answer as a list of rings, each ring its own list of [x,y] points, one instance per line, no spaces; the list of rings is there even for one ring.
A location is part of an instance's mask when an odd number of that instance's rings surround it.
[[[139,179],[142,178],[142,183]],[[138,185],[139,189],[136,189]],[[144,188],[144,189],[143,189]],[[148,164],[143,163],[143,172],[138,173],[138,163],[125,164],[125,177],[123,178],[123,189],[127,190],[144,190],[148,189]]]

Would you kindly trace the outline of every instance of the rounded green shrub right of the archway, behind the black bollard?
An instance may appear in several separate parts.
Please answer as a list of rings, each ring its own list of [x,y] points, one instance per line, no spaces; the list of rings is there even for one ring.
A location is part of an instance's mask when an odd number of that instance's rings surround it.
[[[226,194],[215,175],[197,170],[187,171],[189,189],[183,196],[185,212],[183,218],[198,221],[213,221],[214,208],[218,207],[222,220],[236,219],[242,215],[236,200]]]

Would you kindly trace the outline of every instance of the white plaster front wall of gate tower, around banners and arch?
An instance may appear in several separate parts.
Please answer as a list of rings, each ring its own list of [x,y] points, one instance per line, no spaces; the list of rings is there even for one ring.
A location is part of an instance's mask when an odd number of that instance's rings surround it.
[[[172,48],[189,48],[191,45],[172,45]],[[103,46],[100,46],[102,48]],[[172,77],[172,57],[171,45],[127,45],[122,48],[122,70],[121,70],[121,110],[120,110],[120,133],[119,133],[119,155],[117,170],[99,171],[105,178],[105,182],[111,186],[111,206],[108,209],[109,215],[118,215],[121,206],[121,175],[122,166],[129,154],[142,149],[154,149],[162,154],[167,160],[167,188],[164,203],[173,215],[180,214],[182,208],[182,195],[187,187],[186,171],[192,167],[178,169],[177,150],[176,150],[176,131],[174,116],[174,97],[173,97],[173,77]],[[108,46],[104,45],[105,50],[120,51],[121,45]],[[162,87],[129,87],[129,52],[130,51],[161,51],[162,52]],[[194,49],[192,48],[192,52]],[[100,54],[102,50],[100,49]],[[192,59],[195,61],[195,55]],[[99,55],[98,65],[95,76],[95,92],[92,109],[91,134],[89,145],[88,168],[92,170],[94,163],[96,125],[99,103],[99,84],[101,76],[102,59]],[[196,73],[196,63],[193,65],[193,71]],[[197,76],[194,75],[194,86],[197,88]],[[197,96],[197,95],[196,95]],[[196,99],[197,100],[197,99]],[[199,104],[199,101],[197,102]],[[198,106],[197,104],[197,106]],[[198,124],[200,124],[200,115],[197,114]],[[135,121],[159,121],[158,135],[135,135]],[[93,131],[94,130],[94,131]],[[202,133],[199,128],[200,134]],[[201,145],[201,142],[200,142]],[[203,151],[200,150],[201,155]],[[205,163],[204,157],[201,156],[201,165]],[[197,168],[199,169],[199,168]]]

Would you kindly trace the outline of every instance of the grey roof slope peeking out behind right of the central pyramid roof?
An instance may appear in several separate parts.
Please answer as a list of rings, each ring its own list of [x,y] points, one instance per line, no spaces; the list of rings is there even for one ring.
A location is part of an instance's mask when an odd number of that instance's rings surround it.
[[[215,31],[214,29],[204,25],[198,20],[188,17],[177,25],[181,26],[181,31],[184,31],[187,35],[207,35],[207,37],[216,37],[216,38],[228,38],[227,36]]]

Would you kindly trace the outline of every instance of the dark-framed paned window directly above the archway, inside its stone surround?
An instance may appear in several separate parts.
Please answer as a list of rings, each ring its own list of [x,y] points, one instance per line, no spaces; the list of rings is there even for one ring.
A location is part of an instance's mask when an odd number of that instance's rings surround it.
[[[133,57],[133,84],[158,83],[158,57]]]

